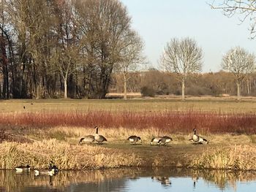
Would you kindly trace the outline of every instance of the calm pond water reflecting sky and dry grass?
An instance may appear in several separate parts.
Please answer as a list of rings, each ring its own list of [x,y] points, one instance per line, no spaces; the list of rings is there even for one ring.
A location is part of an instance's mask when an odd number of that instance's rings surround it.
[[[0,171],[0,192],[5,191],[255,191],[256,172],[194,169],[105,169],[61,171],[35,176]]]

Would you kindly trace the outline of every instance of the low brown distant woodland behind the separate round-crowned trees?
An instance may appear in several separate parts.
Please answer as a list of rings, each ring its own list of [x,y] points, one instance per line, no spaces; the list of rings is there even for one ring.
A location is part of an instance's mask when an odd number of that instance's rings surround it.
[[[123,93],[121,74],[113,74],[110,92]],[[256,96],[256,73],[252,73],[240,85],[242,96]],[[143,96],[175,95],[182,96],[181,81],[174,72],[148,69],[145,72],[129,73],[127,91]],[[236,80],[231,72],[194,73],[187,75],[185,95],[190,96],[237,96]]]

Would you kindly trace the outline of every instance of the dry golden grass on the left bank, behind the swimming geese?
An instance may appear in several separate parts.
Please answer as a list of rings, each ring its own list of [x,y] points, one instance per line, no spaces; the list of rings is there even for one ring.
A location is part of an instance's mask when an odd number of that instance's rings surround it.
[[[46,169],[50,160],[59,169],[99,169],[140,164],[140,158],[134,154],[127,155],[120,150],[99,146],[69,145],[56,139],[32,144],[4,142],[0,145],[0,169],[14,169],[20,164]]]

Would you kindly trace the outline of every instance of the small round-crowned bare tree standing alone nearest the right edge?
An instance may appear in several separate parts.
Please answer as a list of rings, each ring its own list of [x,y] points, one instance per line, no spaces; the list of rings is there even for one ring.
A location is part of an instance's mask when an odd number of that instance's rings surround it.
[[[255,55],[241,47],[229,50],[222,58],[222,69],[233,73],[237,86],[237,99],[240,100],[240,85],[244,78],[255,69]]]

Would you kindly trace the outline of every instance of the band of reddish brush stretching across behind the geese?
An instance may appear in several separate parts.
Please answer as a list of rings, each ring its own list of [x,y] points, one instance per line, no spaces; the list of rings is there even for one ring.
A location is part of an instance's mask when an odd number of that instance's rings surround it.
[[[0,115],[1,126],[29,126],[45,128],[52,126],[95,125],[105,128],[159,128],[170,133],[189,133],[197,128],[200,133],[256,134],[256,115],[218,114],[214,112],[25,112]]]

